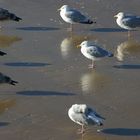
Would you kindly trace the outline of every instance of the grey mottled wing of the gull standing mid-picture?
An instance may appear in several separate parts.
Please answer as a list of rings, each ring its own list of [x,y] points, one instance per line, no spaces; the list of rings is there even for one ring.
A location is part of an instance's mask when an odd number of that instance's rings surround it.
[[[91,46],[87,48],[87,53],[94,57],[104,57],[108,55],[108,52],[100,47]]]

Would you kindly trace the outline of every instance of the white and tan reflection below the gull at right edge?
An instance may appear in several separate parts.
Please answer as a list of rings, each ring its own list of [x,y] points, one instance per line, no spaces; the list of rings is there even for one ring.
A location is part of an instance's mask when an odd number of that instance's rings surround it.
[[[126,55],[136,53],[140,53],[140,42],[129,39],[117,46],[116,57],[119,61],[124,61]]]

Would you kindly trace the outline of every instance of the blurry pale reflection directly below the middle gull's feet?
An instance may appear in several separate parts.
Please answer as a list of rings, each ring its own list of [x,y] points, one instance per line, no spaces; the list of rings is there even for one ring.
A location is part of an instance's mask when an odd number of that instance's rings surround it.
[[[110,83],[109,77],[96,71],[81,75],[80,84],[83,94],[96,94]]]

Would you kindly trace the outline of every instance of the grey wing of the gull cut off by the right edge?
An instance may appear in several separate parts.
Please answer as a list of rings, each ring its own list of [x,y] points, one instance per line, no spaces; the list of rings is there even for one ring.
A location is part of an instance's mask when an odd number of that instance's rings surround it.
[[[135,27],[140,26],[140,17],[137,17],[137,16],[126,17],[122,20],[122,22],[126,26],[135,28]]]

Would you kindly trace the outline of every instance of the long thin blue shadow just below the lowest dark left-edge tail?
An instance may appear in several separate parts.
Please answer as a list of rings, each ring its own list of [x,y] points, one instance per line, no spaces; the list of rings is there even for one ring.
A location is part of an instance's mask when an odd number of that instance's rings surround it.
[[[57,91],[19,91],[16,94],[25,96],[73,96],[74,93],[65,93]]]

